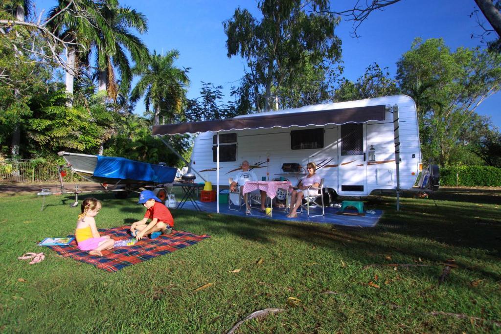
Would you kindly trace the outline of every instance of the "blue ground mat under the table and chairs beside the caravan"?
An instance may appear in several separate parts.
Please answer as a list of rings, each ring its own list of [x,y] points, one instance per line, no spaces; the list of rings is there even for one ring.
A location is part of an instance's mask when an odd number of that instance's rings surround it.
[[[196,201],[201,210],[205,212],[216,212],[216,202],[200,202]],[[232,206],[232,208],[238,208],[237,206]],[[183,209],[195,210],[194,206],[190,201],[187,201],[183,205]],[[355,215],[338,215],[338,208],[325,208],[325,216],[320,217],[308,217],[306,210],[303,210],[303,213],[298,212],[297,218],[287,218],[287,213],[283,211],[283,209],[273,208],[273,217],[267,216],[265,213],[261,212],[259,207],[253,207],[251,212],[252,215],[248,215],[249,218],[259,218],[259,219],[277,219],[277,220],[286,220],[286,221],[296,221],[296,222],[309,222],[309,223],[325,223],[325,224],[334,224],[334,225],[344,225],[344,226],[352,226],[352,227],[374,227],[381,215],[383,214],[382,210],[374,210],[375,214],[366,214],[365,216],[355,216]],[[355,213],[356,211],[346,210],[347,212]],[[310,214],[321,214],[321,208],[310,208]],[[219,204],[219,213],[228,214],[233,216],[245,217],[245,208],[242,207],[241,211],[233,211],[228,210],[227,203]]]

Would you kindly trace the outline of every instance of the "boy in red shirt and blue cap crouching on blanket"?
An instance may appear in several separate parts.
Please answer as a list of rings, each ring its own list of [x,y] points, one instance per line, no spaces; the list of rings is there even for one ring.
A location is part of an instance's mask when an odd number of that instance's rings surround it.
[[[162,204],[162,201],[155,196],[153,191],[143,190],[139,195],[139,202],[147,209],[144,218],[134,222],[130,230],[137,240],[141,240],[145,235],[151,234],[152,239],[160,234],[169,234],[174,226],[174,219],[169,209]],[[149,224],[146,224],[151,219]]]

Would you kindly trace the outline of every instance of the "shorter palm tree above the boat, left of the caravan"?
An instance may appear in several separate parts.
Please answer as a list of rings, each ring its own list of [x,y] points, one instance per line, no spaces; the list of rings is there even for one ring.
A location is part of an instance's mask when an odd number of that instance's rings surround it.
[[[154,124],[160,124],[160,116],[170,122],[180,114],[189,85],[188,71],[174,66],[174,60],[179,58],[179,51],[171,50],[165,56],[153,52],[146,66],[136,64],[132,69],[135,75],[140,75],[136,86],[131,92],[131,101],[136,102],[144,97],[146,111],[153,107]],[[160,115],[163,112],[163,115]]]

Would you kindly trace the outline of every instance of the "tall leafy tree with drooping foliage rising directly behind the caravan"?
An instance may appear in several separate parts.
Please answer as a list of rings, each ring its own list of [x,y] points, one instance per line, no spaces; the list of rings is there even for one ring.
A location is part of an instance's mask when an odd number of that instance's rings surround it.
[[[272,90],[277,99],[284,80],[299,75],[305,62],[318,65],[340,58],[341,41],[334,35],[339,19],[315,13],[328,11],[324,0],[263,0],[258,9],[261,20],[238,8],[223,27],[228,57],[247,61],[256,109],[268,111]]]

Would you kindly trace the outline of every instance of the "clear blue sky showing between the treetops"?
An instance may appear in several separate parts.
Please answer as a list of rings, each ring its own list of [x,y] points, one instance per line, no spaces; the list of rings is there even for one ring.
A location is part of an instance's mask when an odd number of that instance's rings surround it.
[[[331,7],[343,10],[353,7],[356,0],[332,1]],[[50,9],[55,0],[37,1],[37,9]],[[226,56],[226,36],[222,22],[231,18],[237,7],[246,8],[258,16],[256,2],[247,1],[173,1],[173,0],[121,0],[148,18],[148,34],[141,36],[150,51],[164,53],[177,49],[178,67],[190,67],[191,87],[188,97],[199,95],[201,81],[221,85],[225,101],[229,90],[237,85],[243,74],[245,62],[239,57]],[[351,22],[343,21],[335,33],[343,42],[344,76],[355,81],[365,73],[372,62],[388,67],[394,77],[396,62],[410,49],[416,37],[423,40],[443,38],[446,45],[476,47],[479,39],[471,39],[472,33],[480,33],[470,13],[476,9],[473,0],[402,0],[383,12],[375,12],[358,30],[359,39],[352,38]],[[477,112],[488,115],[494,125],[501,127],[501,94],[482,103]],[[144,105],[138,103],[136,113],[142,114]]]

